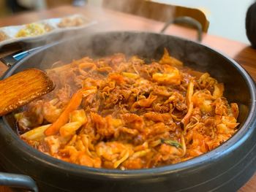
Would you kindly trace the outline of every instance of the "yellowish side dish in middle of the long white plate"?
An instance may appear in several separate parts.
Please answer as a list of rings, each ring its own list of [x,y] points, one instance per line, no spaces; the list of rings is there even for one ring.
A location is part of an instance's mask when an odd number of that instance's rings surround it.
[[[52,30],[53,28],[48,24],[30,23],[27,24],[24,28],[20,29],[20,31],[18,31],[16,34],[16,37],[34,37],[46,34]]]

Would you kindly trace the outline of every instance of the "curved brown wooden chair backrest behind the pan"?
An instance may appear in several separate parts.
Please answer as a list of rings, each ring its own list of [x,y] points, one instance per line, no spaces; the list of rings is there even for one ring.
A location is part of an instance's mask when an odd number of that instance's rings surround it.
[[[103,0],[103,7],[163,22],[179,16],[189,16],[201,23],[204,32],[208,31],[209,22],[206,15],[200,9],[179,7],[146,0]]]

